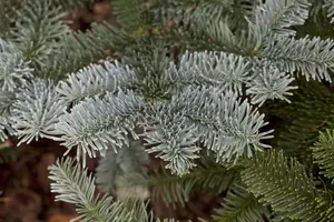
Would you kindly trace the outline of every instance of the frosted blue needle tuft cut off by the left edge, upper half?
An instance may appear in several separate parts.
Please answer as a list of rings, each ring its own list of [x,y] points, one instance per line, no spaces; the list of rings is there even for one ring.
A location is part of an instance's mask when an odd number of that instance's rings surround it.
[[[22,53],[12,43],[0,39],[0,89],[13,91],[17,87],[27,85],[31,72]]]

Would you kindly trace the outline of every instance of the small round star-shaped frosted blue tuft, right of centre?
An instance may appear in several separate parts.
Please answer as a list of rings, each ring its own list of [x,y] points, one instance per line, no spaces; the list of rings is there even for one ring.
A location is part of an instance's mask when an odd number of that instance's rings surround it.
[[[254,70],[254,79],[247,84],[247,94],[250,94],[252,103],[258,104],[259,107],[266,100],[285,100],[287,95],[293,93],[289,90],[297,89],[297,87],[289,85],[295,78],[292,75],[279,71],[273,65],[263,65]]]

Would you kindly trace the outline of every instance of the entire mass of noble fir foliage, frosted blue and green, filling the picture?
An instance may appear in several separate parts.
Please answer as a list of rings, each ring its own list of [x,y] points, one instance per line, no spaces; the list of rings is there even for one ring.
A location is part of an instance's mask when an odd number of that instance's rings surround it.
[[[334,221],[334,1],[110,3],[116,22],[73,31],[94,1],[0,0],[0,139],[68,149],[57,200],[80,221],[177,221],[149,200],[210,191],[212,221]]]

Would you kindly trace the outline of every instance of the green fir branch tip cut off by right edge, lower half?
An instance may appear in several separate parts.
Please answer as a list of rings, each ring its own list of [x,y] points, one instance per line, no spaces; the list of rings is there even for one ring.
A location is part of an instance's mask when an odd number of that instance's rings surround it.
[[[318,141],[312,148],[314,162],[320,165],[321,174],[334,183],[334,131],[320,132]]]

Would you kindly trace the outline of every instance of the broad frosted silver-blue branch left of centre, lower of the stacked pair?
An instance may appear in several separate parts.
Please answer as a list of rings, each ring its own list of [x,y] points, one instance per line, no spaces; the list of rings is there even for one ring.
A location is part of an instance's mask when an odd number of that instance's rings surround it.
[[[89,98],[80,102],[59,118],[56,129],[61,134],[62,144],[68,152],[77,147],[77,158],[88,154],[96,157],[96,151],[104,155],[109,143],[112,148],[128,144],[127,134],[135,139],[135,123],[145,110],[145,102],[134,92],[118,91],[117,95],[109,92],[105,98]]]

